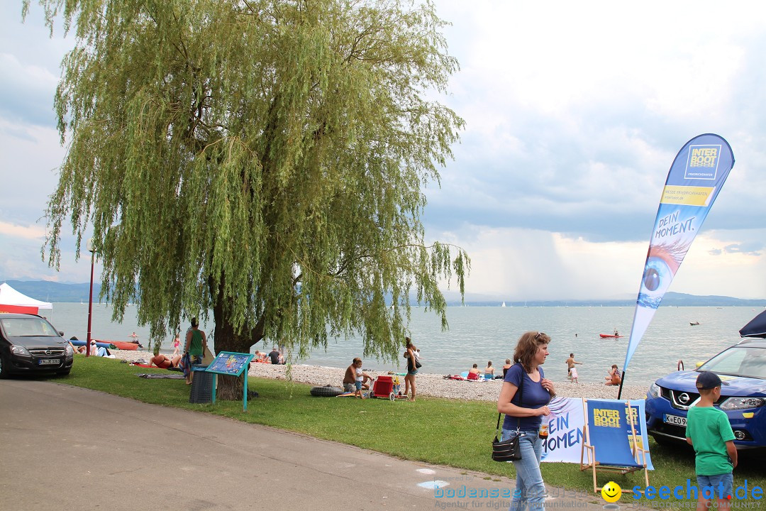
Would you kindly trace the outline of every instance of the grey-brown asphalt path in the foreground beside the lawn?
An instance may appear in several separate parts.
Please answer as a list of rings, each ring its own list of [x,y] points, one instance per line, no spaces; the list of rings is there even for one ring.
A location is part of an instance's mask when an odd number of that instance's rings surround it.
[[[100,391],[0,381],[0,509],[508,509],[513,486]],[[548,495],[546,509],[604,509],[594,494]]]

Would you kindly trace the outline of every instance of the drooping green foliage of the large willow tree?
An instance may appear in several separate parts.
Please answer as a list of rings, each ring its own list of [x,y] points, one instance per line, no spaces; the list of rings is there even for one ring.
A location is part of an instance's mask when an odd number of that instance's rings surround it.
[[[218,351],[355,335],[383,359],[411,294],[446,325],[438,285],[462,293],[468,259],[424,241],[423,188],[463,120],[434,100],[457,70],[434,5],[40,3],[77,36],[43,254],[59,264],[68,221],[79,256],[92,228],[116,319],[135,301],[160,339],[211,310]]]

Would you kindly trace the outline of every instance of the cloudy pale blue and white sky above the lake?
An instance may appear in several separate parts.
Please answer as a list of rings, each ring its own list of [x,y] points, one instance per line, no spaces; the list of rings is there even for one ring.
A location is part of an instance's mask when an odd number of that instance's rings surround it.
[[[467,293],[635,296],[676,153],[717,133],[736,162],[669,290],[766,298],[766,5],[434,3],[460,62],[439,100],[466,129],[425,188],[424,225],[470,254]],[[59,271],[41,258],[66,153],[53,111],[74,46],[63,36],[34,2],[23,24],[21,0],[0,3],[0,280],[90,278],[69,231]]]

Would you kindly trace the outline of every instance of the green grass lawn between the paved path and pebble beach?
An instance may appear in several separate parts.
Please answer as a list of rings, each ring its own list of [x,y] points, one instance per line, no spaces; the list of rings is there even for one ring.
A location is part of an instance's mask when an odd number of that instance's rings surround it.
[[[189,387],[183,380],[136,377],[141,372],[167,371],[129,366],[115,359],[77,356],[71,375],[54,381],[155,405],[204,411],[237,421],[297,431],[408,460],[483,472],[488,478],[515,477],[511,464],[499,464],[489,457],[489,444],[497,419],[493,403],[422,396],[414,403],[388,399],[315,398],[309,395],[309,385],[248,378],[248,388],[260,395],[250,399],[247,412],[243,412],[242,401],[190,404]],[[692,450],[662,447],[650,437],[650,452],[655,467],[649,475],[652,486],[686,486],[687,479],[696,484]],[[740,465],[734,473],[735,488],[744,486],[745,480],[748,480],[749,488],[766,487],[761,456],[740,453]],[[544,464],[543,477],[545,483],[553,486],[592,491],[591,473],[581,472],[577,464]],[[600,475],[599,486],[609,480],[623,488],[643,486],[642,473]]]

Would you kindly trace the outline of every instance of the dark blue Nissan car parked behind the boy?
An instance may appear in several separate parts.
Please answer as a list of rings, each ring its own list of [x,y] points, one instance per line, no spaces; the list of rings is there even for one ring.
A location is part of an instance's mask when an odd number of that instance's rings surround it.
[[[732,424],[738,449],[766,447],[766,339],[742,339],[715,355],[696,371],[673,372],[647,391],[647,431],[658,444],[686,443],[686,411],[699,399],[699,371],[721,378],[715,406]]]

